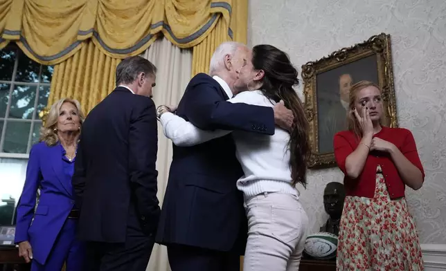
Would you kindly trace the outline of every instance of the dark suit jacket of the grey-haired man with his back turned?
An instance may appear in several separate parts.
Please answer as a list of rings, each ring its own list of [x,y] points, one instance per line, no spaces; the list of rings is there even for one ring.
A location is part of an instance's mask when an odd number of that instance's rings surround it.
[[[157,118],[152,99],[118,87],[82,125],[73,175],[84,241],[124,242],[127,226],[154,233]]]

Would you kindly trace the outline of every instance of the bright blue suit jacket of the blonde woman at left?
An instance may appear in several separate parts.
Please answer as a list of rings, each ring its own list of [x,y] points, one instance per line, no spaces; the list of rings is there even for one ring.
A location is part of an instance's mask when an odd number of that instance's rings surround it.
[[[17,205],[15,243],[29,241],[33,247],[33,259],[41,264],[46,262],[74,205],[71,180],[63,171],[62,156],[60,144],[48,147],[40,142],[33,146],[24,189]],[[39,205],[35,209],[39,187]]]

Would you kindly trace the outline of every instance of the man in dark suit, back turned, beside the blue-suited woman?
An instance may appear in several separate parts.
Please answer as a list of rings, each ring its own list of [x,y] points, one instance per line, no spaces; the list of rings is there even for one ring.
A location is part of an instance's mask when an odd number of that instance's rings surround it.
[[[128,57],[116,88],[87,116],[73,174],[86,271],[145,270],[159,221],[156,68]]]

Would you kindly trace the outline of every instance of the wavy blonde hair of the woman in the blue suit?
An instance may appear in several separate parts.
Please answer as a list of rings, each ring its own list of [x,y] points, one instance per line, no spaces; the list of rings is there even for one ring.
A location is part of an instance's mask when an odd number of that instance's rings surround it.
[[[60,108],[65,102],[69,102],[73,104],[73,106],[75,106],[75,108],[78,110],[80,124],[82,125],[82,123],[84,122],[85,116],[84,113],[82,113],[82,109],[80,108],[80,103],[78,102],[78,100],[62,98],[51,106],[51,109],[46,116],[45,125],[40,129],[39,142],[44,141],[48,146],[54,146],[55,144],[57,144],[57,142],[59,142],[57,131],[54,130],[56,128],[57,119],[59,118]]]

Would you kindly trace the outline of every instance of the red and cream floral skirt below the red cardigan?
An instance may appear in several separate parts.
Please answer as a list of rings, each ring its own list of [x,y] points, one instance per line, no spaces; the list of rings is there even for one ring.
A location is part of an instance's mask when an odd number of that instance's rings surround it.
[[[391,200],[380,166],[375,196],[346,196],[339,226],[337,270],[424,270],[405,198]]]

